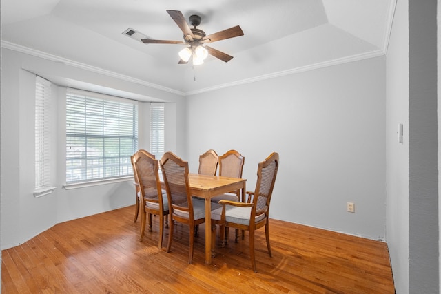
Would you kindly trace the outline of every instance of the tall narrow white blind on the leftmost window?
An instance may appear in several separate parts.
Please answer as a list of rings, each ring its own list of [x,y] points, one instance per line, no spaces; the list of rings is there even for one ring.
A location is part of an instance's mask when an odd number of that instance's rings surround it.
[[[35,189],[50,187],[50,81],[35,81]]]

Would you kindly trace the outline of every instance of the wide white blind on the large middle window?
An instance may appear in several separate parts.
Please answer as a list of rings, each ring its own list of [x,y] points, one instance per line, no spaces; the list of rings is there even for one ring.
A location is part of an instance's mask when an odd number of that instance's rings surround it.
[[[136,101],[72,89],[66,98],[66,183],[132,175]]]

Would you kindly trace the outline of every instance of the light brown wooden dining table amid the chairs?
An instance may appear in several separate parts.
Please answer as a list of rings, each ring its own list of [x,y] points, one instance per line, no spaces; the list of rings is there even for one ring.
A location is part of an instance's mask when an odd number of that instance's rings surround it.
[[[160,175],[161,188],[165,189],[162,175]],[[205,263],[212,263],[212,198],[231,191],[240,190],[240,195],[245,196],[247,189],[244,178],[227,178],[223,176],[207,176],[201,174],[188,175],[192,196],[205,200]]]

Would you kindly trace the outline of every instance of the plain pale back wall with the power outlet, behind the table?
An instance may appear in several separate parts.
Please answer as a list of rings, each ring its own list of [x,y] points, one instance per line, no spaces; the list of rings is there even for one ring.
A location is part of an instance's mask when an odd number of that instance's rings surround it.
[[[384,65],[377,57],[188,96],[184,158],[196,172],[207,149],[236,149],[252,190],[258,162],[277,151],[271,218],[384,240]]]

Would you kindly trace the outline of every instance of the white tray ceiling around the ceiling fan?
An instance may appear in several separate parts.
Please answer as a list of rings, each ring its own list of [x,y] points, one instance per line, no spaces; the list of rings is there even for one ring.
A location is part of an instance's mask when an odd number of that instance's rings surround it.
[[[384,54],[396,0],[1,0],[2,45],[45,52],[107,74],[192,94],[300,70]],[[183,45],[165,10],[202,17],[207,34],[240,25],[244,36],[210,43],[234,56],[178,65]]]

